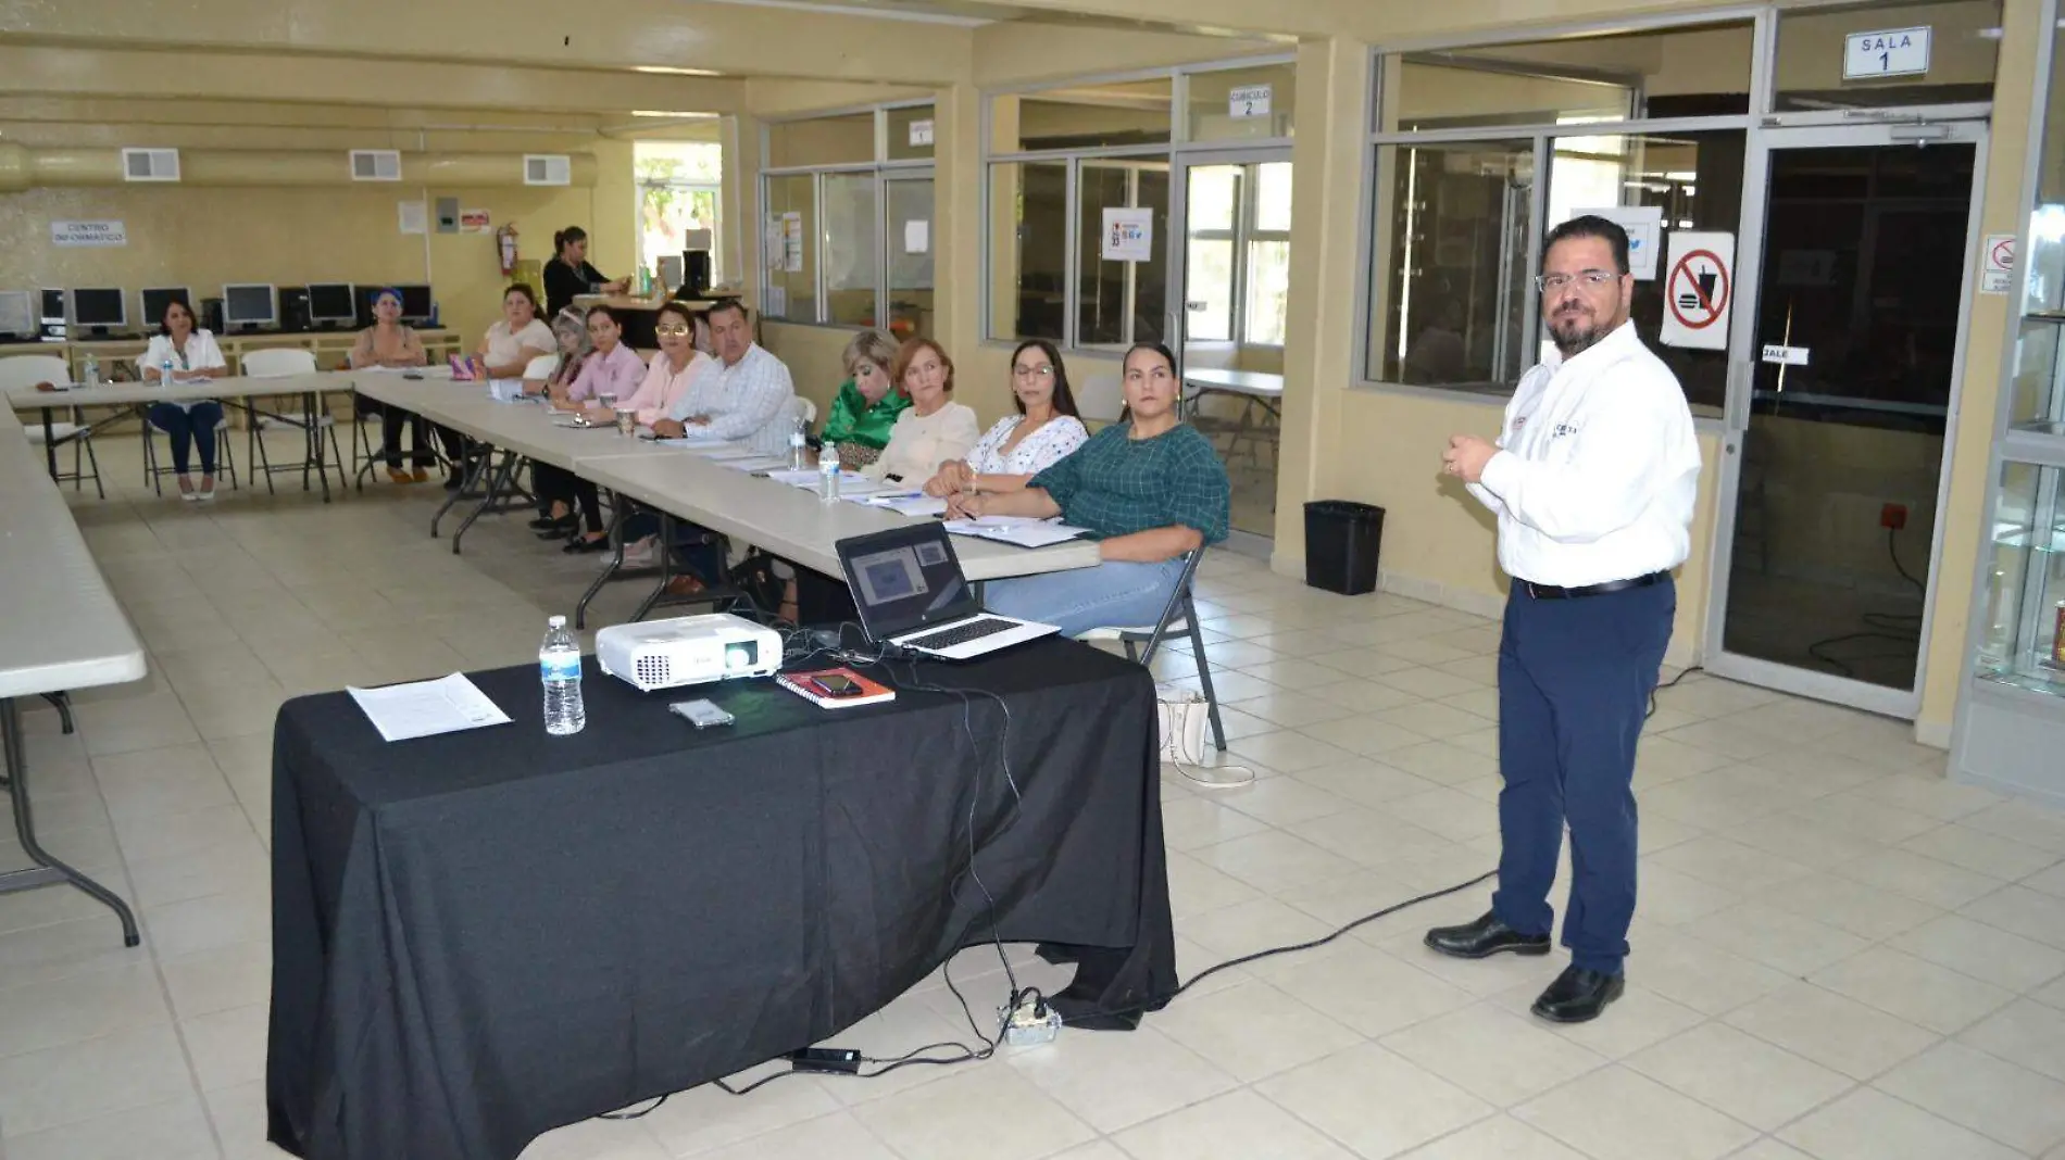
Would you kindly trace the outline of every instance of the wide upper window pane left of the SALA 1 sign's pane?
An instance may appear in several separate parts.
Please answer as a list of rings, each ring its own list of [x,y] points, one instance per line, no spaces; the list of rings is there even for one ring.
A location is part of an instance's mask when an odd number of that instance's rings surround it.
[[[1390,132],[1745,114],[1749,62],[1749,21],[1388,56],[1379,124]]]

